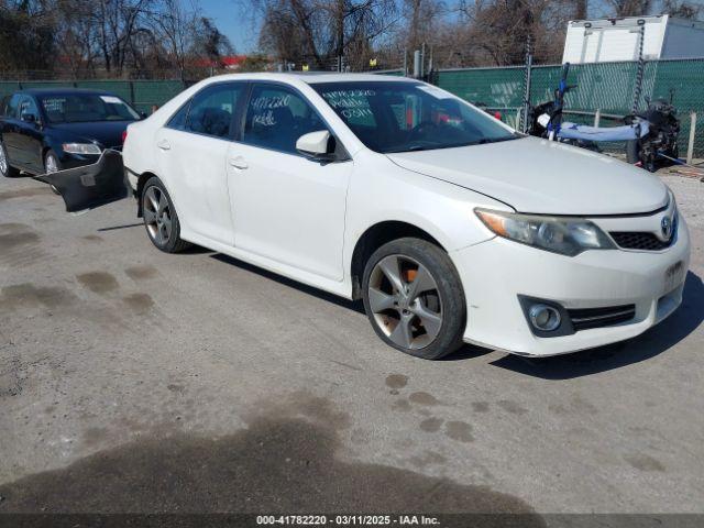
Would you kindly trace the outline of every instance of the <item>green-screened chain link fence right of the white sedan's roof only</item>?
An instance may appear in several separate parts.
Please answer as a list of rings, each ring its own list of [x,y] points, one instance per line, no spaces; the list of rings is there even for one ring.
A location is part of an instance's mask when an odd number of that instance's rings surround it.
[[[566,119],[592,124],[598,111],[600,124],[623,124],[634,103],[638,63],[580,64],[570,68],[568,84],[576,85],[565,97]],[[560,82],[561,65],[534,66],[530,103],[551,100]],[[482,103],[505,113],[506,121],[517,124],[525,96],[525,67],[447,69],[436,75],[441,88],[463,99]],[[704,58],[686,61],[652,61],[646,64],[642,96],[638,108],[645,110],[648,100],[672,100],[682,123],[680,152],[688,152],[691,113],[696,112],[700,125],[694,136],[694,155],[704,157]],[[605,145],[606,150],[623,144]]]

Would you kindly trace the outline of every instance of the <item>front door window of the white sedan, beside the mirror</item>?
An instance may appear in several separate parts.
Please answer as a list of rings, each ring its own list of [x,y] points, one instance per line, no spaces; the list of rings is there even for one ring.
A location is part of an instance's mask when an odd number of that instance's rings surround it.
[[[296,154],[296,142],[301,135],[326,129],[308,101],[294,90],[255,85],[248,103],[242,141]]]

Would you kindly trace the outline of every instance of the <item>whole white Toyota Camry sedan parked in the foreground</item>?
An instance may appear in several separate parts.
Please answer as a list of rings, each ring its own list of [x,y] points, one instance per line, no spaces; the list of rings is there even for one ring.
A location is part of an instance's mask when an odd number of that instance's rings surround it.
[[[682,301],[689,232],[660,179],[416,80],[208,79],[131,124],[123,158],[156,248],[362,298],[416,356],[574,352]]]

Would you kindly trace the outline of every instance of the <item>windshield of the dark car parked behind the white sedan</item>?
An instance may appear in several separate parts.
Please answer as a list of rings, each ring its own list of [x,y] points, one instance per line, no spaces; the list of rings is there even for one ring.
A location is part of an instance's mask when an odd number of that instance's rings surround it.
[[[119,97],[97,94],[62,94],[41,98],[50,123],[138,121],[140,114]]]

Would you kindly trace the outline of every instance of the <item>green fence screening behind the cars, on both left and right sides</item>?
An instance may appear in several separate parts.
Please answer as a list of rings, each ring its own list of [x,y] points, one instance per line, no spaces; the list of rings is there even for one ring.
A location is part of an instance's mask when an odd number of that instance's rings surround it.
[[[532,105],[552,98],[560,80],[562,67],[535,66],[530,101]],[[601,63],[574,65],[570,69],[569,84],[578,85],[565,100],[565,109],[575,112],[625,116],[634,102],[638,64]],[[387,75],[403,75],[400,70]],[[438,73],[436,81],[471,102],[483,103],[503,110],[509,124],[516,125],[518,110],[522,106],[526,70],[521,66],[502,68],[451,69]],[[180,80],[77,80],[77,81],[0,81],[0,97],[20,88],[73,86],[111,91],[130,101],[138,110],[148,112],[162,106],[186,88]],[[695,155],[704,157],[704,58],[688,61],[654,61],[645,66],[640,108],[647,99],[670,99],[679,111],[682,123],[680,152],[685,153],[690,138],[690,113],[696,112],[698,125],[695,134]],[[569,119],[588,122],[588,116],[571,116]],[[618,121],[602,121],[602,125]]]

